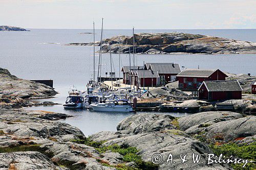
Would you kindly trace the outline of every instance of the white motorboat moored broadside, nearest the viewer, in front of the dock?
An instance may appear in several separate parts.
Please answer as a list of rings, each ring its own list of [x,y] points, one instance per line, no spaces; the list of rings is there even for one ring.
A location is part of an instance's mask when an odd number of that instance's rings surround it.
[[[132,112],[129,100],[108,100],[105,103],[91,104],[94,111],[102,112]]]

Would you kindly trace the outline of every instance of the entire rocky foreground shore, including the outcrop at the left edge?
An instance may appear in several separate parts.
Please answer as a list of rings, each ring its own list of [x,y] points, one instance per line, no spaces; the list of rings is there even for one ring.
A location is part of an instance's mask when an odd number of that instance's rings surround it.
[[[0,82],[1,169],[256,168],[256,116],[223,111],[181,118],[141,113],[121,120],[117,131],[86,137],[78,128],[58,122],[70,115],[19,108],[26,99],[56,94],[51,87],[19,79],[3,68]],[[181,162],[181,153],[187,154],[186,162]],[[201,155],[199,163],[193,163],[193,153]],[[163,158],[158,164],[152,163],[156,154]],[[169,154],[176,163],[166,164]],[[243,162],[208,163],[208,154],[217,155],[212,160],[223,154]]]

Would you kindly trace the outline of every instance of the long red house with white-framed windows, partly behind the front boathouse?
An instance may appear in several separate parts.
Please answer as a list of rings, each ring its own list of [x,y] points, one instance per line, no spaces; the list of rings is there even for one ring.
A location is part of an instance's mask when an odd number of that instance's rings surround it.
[[[179,89],[197,91],[203,81],[226,80],[227,75],[219,69],[184,69],[177,76]]]

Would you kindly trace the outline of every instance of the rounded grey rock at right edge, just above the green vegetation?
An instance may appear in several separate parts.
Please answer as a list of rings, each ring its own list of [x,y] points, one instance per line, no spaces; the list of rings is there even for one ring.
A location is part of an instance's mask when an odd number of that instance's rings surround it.
[[[202,112],[181,117],[178,122],[186,134],[200,135],[209,142],[230,142],[256,135],[256,116],[244,117],[240,113]]]

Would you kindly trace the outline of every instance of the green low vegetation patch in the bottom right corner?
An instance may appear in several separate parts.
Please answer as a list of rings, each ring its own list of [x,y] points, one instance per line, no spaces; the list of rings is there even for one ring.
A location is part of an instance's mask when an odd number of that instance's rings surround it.
[[[227,143],[221,145],[210,145],[210,148],[216,155],[223,154],[226,157],[233,157],[241,158],[241,159],[248,159],[248,161],[256,160],[256,142],[250,144],[236,144],[236,143]],[[243,168],[242,164],[230,164],[234,169],[256,169],[256,164],[253,162],[247,163],[246,166]]]

